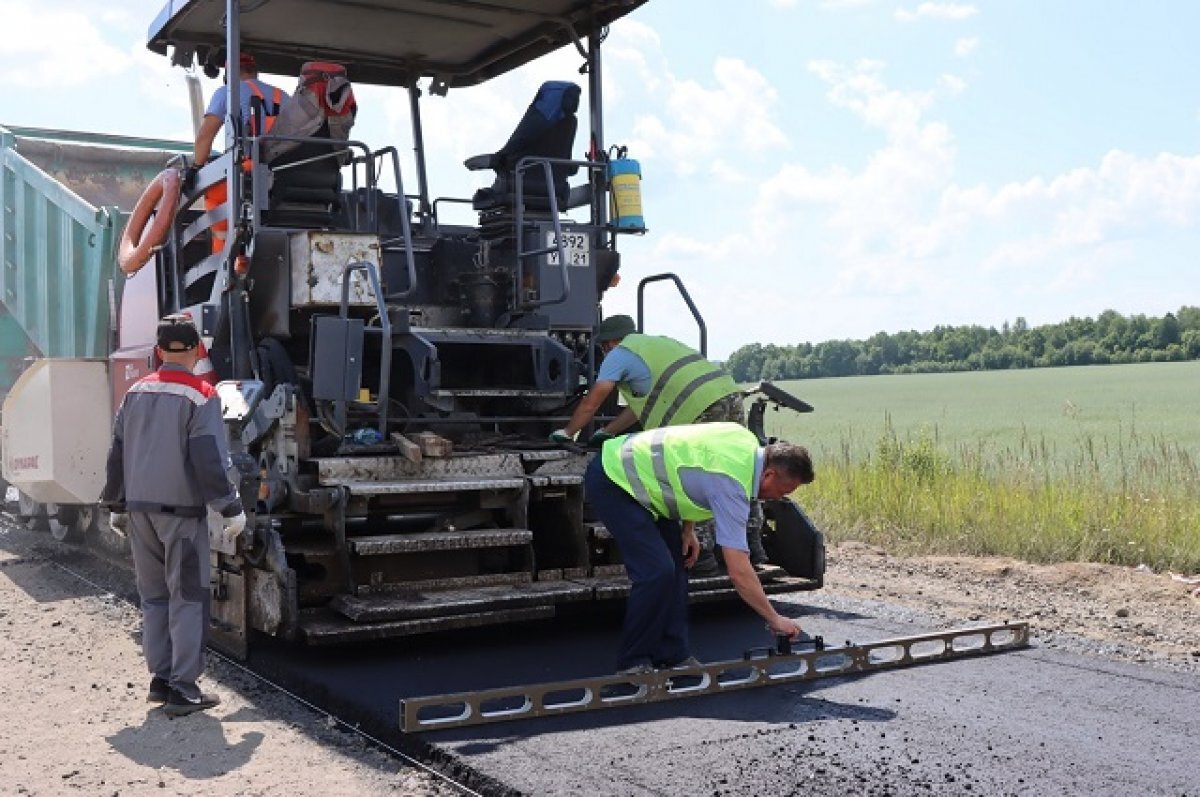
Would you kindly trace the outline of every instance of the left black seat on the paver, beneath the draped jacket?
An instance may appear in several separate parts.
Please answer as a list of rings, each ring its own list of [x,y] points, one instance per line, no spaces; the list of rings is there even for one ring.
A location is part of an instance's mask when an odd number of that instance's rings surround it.
[[[329,138],[326,121],[313,138]],[[271,161],[265,221],[272,227],[330,227],[341,208],[342,164],[334,152],[344,142],[306,142]],[[290,166],[290,164],[298,166]]]

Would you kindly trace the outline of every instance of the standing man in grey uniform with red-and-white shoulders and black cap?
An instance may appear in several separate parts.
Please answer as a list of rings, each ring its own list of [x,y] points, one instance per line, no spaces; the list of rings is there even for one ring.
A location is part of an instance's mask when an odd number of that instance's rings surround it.
[[[158,323],[162,367],[133,384],[113,425],[101,503],[126,534],[142,598],[149,702],[179,717],[216,706],[200,691],[209,625],[208,509],[227,535],[246,526],[224,442],[221,401],[192,373],[200,336],[186,314]]]

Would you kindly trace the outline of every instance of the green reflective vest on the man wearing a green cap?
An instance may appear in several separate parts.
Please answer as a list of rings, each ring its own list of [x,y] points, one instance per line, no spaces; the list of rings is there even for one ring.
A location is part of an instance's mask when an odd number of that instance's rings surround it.
[[[642,429],[690,424],[738,385],[724,368],[713,365],[679,341],[658,335],[626,335],[620,342],[650,370],[653,382],[644,396],[622,383],[617,386],[637,415]]]

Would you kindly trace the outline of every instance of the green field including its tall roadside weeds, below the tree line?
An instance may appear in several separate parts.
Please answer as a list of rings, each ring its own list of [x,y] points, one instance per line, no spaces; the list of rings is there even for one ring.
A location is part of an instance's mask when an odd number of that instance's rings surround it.
[[[1200,362],[781,383],[830,541],[1200,571]]]

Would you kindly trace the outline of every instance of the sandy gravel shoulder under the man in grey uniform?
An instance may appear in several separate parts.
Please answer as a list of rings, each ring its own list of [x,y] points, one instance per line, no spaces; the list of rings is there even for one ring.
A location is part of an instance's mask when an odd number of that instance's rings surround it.
[[[0,517],[0,783],[6,795],[460,793],[210,657],[211,712],[145,702],[137,610]]]

